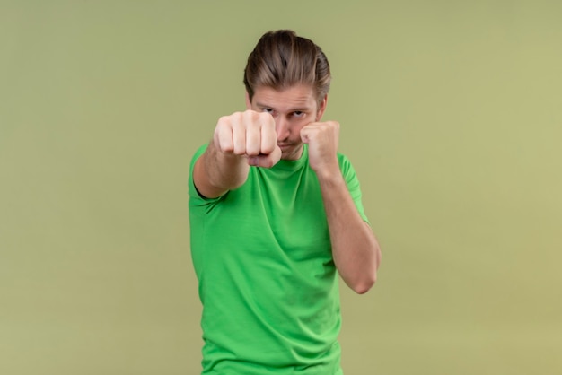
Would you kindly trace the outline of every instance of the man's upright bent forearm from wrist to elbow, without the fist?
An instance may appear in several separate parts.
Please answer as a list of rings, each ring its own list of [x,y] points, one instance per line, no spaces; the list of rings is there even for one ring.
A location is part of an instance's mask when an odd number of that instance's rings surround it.
[[[319,181],[339,275],[355,292],[367,292],[381,260],[378,241],[357,212],[341,173],[319,176]]]

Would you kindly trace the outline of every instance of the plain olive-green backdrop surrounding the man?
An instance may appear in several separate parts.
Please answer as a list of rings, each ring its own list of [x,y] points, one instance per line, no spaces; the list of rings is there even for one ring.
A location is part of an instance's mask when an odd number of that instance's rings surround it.
[[[0,1],[0,373],[196,374],[189,159],[291,28],[383,250],[347,374],[562,371],[559,1]]]

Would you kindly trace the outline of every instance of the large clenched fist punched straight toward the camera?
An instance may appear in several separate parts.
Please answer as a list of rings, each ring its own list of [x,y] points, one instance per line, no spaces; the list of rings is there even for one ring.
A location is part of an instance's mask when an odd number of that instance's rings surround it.
[[[246,110],[219,118],[213,141],[221,153],[246,157],[253,166],[271,168],[281,159],[275,120],[267,112]]]

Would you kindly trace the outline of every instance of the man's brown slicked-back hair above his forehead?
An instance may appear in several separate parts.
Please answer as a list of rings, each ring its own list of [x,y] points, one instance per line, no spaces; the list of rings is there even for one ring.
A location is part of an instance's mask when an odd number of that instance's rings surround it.
[[[329,92],[330,80],[328,59],[321,48],[291,30],[265,33],[244,69],[244,85],[250,100],[260,86],[284,90],[295,84],[308,84],[320,103]]]

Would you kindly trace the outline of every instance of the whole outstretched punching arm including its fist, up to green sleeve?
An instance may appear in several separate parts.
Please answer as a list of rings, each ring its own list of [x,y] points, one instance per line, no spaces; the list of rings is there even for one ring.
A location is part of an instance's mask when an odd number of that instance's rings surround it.
[[[195,163],[193,182],[202,196],[222,196],[246,182],[250,165],[269,168],[280,157],[271,115],[236,112],[218,120],[213,141]]]

